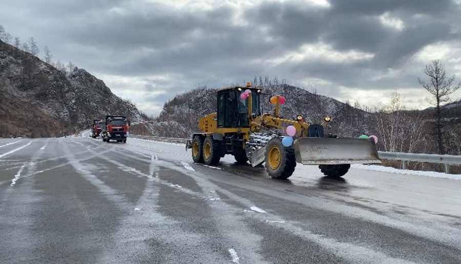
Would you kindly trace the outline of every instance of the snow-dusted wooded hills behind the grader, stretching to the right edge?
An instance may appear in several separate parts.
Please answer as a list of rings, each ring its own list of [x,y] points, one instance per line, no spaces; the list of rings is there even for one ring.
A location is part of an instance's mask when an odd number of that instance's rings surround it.
[[[152,135],[160,137],[189,138],[198,131],[199,118],[216,112],[216,89],[198,88],[176,96],[166,102],[158,118],[149,123]],[[377,135],[379,150],[394,152],[437,153],[434,144],[435,124],[433,109],[406,111],[398,104],[374,111],[365,111],[338,100],[310,93],[299,87],[282,85],[263,86],[261,98],[263,113],[274,111],[269,99],[272,95],[283,95],[286,103],[281,106],[281,115],[294,119],[302,114],[310,123],[319,123],[325,116],[332,121],[327,133],[340,137]],[[454,105],[454,106],[451,106]],[[357,105],[358,106],[358,105]],[[446,153],[461,153],[461,107],[456,103],[445,107],[443,112],[447,124],[444,128]]]

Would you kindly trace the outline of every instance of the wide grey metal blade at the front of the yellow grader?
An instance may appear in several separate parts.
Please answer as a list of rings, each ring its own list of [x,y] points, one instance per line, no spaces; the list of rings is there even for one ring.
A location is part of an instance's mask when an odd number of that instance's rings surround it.
[[[296,161],[304,165],[381,163],[374,141],[354,138],[298,138]]]

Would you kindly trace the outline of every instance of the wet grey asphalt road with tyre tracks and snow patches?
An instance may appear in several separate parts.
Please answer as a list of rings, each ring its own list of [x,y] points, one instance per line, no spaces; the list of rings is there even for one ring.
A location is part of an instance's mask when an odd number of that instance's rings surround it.
[[[461,180],[192,163],[184,146],[0,139],[1,263],[461,263]]]

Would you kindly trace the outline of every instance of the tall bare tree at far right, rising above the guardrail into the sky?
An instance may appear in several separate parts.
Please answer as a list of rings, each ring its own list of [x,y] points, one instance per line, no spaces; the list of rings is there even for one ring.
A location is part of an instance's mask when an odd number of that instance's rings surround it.
[[[445,67],[440,60],[433,60],[430,64],[427,64],[426,68],[424,69],[424,73],[429,77],[429,81],[426,82],[418,78],[418,82],[432,95],[432,100],[428,101],[436,108],[435,117],[437,127],[436,137],[438,153],[445,154],[443,142],[444,124],[442,123],[441,104],[450,100],[449,95],[459,89],[461,82],[455,86],[452,86],[455,76],[446,76]]]

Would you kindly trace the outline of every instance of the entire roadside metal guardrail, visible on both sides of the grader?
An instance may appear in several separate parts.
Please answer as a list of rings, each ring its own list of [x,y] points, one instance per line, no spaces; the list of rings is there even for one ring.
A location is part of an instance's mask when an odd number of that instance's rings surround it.
[[[154,136],[139,136],[130,135],[132,138],[148,139],[161,142],[171,142],[185,144],[187,139],[180,138],[163,138]],[[454,155],[437,155],[437,154],[417,154],[417,153],[403,153],[403,152],[387,152],[378,151],[380,159],[385,160],[400,160],[402,161],[402,169],[407,168],[407,162],[429,162],[429,163],[441,163],[445,164],[445,173],[450,173],[450,165],[461,165],[461,156]]]

